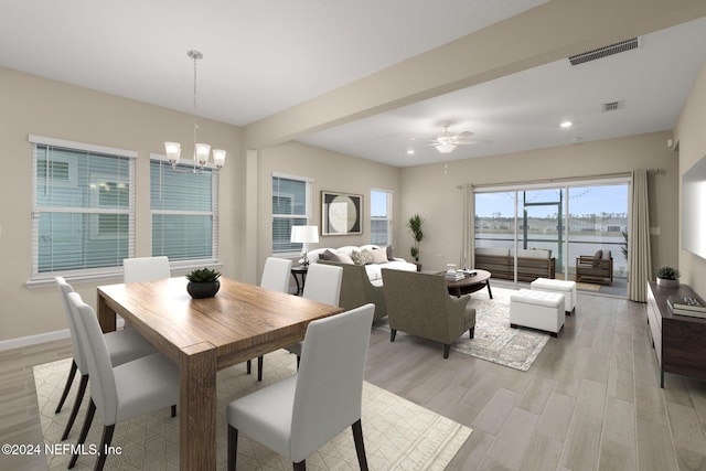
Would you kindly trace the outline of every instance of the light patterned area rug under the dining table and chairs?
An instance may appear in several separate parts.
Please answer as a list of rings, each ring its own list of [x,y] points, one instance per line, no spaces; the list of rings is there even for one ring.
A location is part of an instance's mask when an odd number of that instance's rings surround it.
[[[217,383],[217,468],[226,468],[226,405],[245,394],[275,383],[296,372],[296,358],[285,351],[265,356],[263,382],[247,375],[244,365],[218,372]],[[76,379],[62,411],[54,414],[66,381],[71,360],[62,360],[34,367],[34,383],[44,440],[55,453],[46,459],[50,470],[65,470],[71,459],[68,446],[76,443],[83,425],[88,394],[68,439],[61,441],[73,406]],[[367,461],[372,470],[443,470],[456,454],[471,429],[439,416],[375,385],[363,387],[363,435]],[[99,443],[103,424],[98,414],[94,419],[86,445]],[[60,446],[54,446],[58,443]],[[66,449],[61,445],[66,445]],[[109,456],[106,469],[178,470],[179,418],[171,418],[169,409],[138,417],[116,425],[113,445],[119,453]],[[238,470],[291,470],[291,462],[261,445],[240,435]],[[81,456],[75,470],[90,470],[95,456]],[[357,459],[351,429],[307,459],[310,470],[357,470]]]

